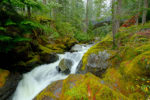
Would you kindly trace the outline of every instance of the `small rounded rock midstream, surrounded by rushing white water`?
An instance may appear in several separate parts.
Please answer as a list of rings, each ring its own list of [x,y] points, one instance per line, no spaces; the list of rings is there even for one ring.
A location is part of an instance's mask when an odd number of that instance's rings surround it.
[[[69,59],[62,59],[57,66],[57,70],[64,74],[69,74],[71,71],[72,61]]]

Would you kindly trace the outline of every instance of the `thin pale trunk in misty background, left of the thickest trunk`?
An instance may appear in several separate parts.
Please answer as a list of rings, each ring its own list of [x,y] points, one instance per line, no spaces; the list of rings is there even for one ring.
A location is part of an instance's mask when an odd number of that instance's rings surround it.
[[[87,30],[88,30],[88,25],[89,25],[89,18],[88,18],[88,15],[89,15],[89,9],[88,9],[88,5],[89,5],[89,0],[87,0],[86,2],[86,18],[85,18],[85,27],[84,27],[84,32],[87,33]]]

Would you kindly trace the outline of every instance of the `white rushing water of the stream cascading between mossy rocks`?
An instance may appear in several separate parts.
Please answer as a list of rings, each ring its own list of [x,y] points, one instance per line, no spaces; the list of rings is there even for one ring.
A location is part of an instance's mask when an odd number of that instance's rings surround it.
[[[13,95],[12,100],[32,100],[38,93],[40,93],[44,88],[54,81],[62,80],[68,77],[59,73],[56,70],[56,66],[59,65],[61,59],[66,58],[73,61],[73,66],[71,69],[71,74],[76,72],[77,66],[82,59],[83,54],[91,46],[77,46],[74,47],[78,52],[65,54],[59,54],[59,60],[52,63],[41,65],[23,75],[23,79],[19,82],[17,89]]]

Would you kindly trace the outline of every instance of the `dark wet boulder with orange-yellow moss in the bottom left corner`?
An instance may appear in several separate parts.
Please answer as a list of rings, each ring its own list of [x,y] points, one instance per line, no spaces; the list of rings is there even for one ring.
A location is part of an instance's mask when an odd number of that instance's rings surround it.
[[[15,92],[21,78],[22,75],[20,73],[8,73],[7,71],[3,73],[0,69],[0,100],[11,100],[11,96]]]

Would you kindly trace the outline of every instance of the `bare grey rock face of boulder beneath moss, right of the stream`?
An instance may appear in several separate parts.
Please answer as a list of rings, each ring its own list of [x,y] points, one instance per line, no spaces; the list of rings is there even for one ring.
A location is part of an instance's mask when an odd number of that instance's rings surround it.
[[[82,63],[78,65],[77,73],[91,72],[96,76],[101,77],[105,70],[110,66],[108,59],[110,54],[107,51],[100,51],[98,54],[90,54],[87,59],[84,70],[82,69]]]

